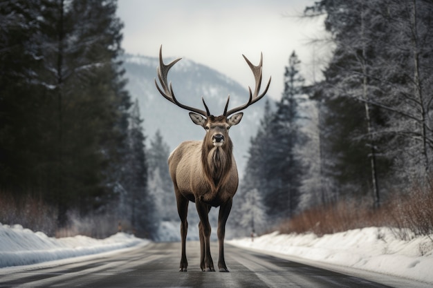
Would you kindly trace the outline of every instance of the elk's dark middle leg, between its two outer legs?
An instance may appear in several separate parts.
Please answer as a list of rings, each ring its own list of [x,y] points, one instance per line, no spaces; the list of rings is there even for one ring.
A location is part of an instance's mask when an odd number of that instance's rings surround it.
[[[212,261],[212,256],[210,256],[210,223],[209,223],[209,210],[210,206],[196,200],[196,209],[199,213],[200,223],[199,223],[199,234],[200,234],[200,268],[201,271],[215,271],[214,262]]]

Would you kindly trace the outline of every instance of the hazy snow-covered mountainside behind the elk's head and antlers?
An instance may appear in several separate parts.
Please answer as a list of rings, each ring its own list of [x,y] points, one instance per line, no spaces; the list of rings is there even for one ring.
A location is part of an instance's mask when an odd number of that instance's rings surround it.
[[[165,64],[173,59],[164,59]],[[145,120],[145,134],[154,137],[159,129],[171,149],[185,140],[202,140],[205,131],[192,123],[188,112],[175,106],[163,98],[156,90],[157,57],[125,55],[123,57],[126,70],[125,77],[129,79],[127,90],[133,99],[140,103],[141,117]],[[196,64],[189,59],[182,59],[169,71],[169,81],[179,102],[204,110],[201,96],[205,98],[210,113],[221,115],[225,101],[230,94],[229,109],[248,101],[248,86],[254,88],[254,83],[244,83],[242,86],[221,73]],[[264,84],[265,85],[265,84]],[[265,96],[266,97],[266,96]],[[254,136],[259,121],[264,114],[266,99],[248,107],[244,112],[241,124],[230,130],[234,144],[234,157],[242,175],[246,165],[246,155],[250,137]]]

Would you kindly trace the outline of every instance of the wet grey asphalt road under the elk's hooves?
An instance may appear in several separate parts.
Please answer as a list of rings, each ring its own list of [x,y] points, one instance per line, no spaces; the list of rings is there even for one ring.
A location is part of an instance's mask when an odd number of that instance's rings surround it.
[[[211,251],[216,263],[216,243]],[[199,242],[187,242],[187,272],[178,271],[180,256],[178,242],[151,243],[60,265],[0,271],[0,287],[388,287],[230,245],[225,247],[230,273],[202,272]]]

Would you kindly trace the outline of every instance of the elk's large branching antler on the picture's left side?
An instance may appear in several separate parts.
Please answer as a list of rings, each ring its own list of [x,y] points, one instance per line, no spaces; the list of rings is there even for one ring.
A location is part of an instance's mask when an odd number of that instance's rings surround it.
[[[176,97],[174,96],[173,93],[173,88],[172,88],[172,82],[170,81],[170,84],[167,84],[167,74],[168,71],[170,70],[170,68],[172,68],[172,66],[174,66],[174,64],[176,64],[177,61],[181,60],[182,58],[178,58],[174,61],[172,61],[171,63],[169,63],[168,65],[165,65],[163,62],[163,46],[161,45],[159,48],[159,67],[156,68],[156,73],[158,74],[158,79],[160,81],[161,84],[161,88],[158,86],[158,82],[155,79],[155,85],[156,88],[158,88],[159,93],[161,93],[161,95],[163,95],[163,97],[165,99],[167,99],[169,102],[172,102],[174,104],[176,104],[177,106],[184,108],[188,111],[192,111],[195,113],[199,113],[205,117],[210,116],[209,113],[209,108],[205,103],[205,99],[203,99],[203,97],[201,97],[203,104],[205,105],[206,111],[194,108],[194,107],[190,107],[190,106],[186,106],[184,104],[181,104],[180,102],[177,101]]]

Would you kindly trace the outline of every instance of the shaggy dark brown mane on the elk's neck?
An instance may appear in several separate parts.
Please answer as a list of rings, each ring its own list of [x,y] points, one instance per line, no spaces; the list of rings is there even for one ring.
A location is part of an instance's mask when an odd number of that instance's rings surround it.
[[[232,151],[233,144],[230,138],[228,142],[221,147],[210,146],[203,141],[201,148],[201,164],[205,178],[208,184],[210,184],[213,193],[217,193],[230,176],[230,170],[232,169]]]

